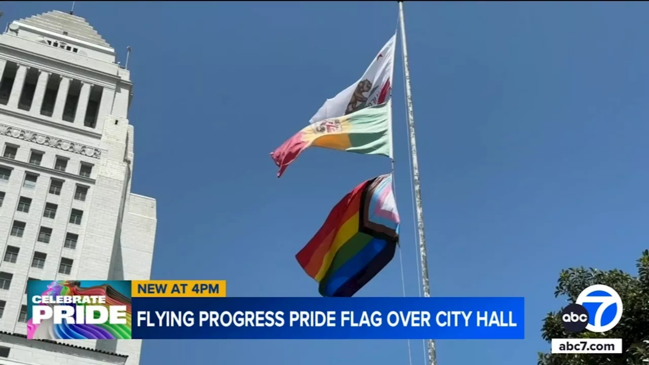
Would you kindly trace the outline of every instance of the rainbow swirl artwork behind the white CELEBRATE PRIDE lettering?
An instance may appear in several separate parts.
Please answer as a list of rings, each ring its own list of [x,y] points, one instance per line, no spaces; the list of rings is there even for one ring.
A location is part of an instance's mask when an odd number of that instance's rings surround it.
[[[27,338],[34,340],[130,340],[130,323],[131,308],[130,299],[123,296],[108,284],[92,286],[90,288],[81,288],[79,281],[53,281],[47,285],[47,290],[42,296],[105,296],[105,304],[108,309],[111,305],[125,305],[127,307],[126,321],[124,325],[114,324],[68,324],[66,321],[62,324],[55,324],[53,320],[44,320],[40,324],[34,324],[30,318],[27,321]],[[47,304],[41,304],[47,305]],[[69,304],[82,310],[84,304]],[[98,316],[98,314],[95,314]]]

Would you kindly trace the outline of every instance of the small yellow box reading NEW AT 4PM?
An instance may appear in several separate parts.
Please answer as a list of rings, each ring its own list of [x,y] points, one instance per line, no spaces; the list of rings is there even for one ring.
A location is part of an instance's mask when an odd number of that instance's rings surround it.
[[[225,280],[134,280],[131,297],[225,297]]]

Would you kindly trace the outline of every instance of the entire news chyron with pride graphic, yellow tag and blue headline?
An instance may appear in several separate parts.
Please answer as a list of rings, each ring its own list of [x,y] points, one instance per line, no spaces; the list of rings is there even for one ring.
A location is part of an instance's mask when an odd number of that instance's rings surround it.
[[[29,281],[27,338],[524,339],[522,297],[226,297],[225,281]]]

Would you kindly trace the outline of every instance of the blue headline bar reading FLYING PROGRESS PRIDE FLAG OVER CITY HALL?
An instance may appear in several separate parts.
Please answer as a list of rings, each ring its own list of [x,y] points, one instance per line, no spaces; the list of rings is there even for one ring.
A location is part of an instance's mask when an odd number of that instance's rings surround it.
[[[523,339],[522,297],[133,297],[132,338]]]

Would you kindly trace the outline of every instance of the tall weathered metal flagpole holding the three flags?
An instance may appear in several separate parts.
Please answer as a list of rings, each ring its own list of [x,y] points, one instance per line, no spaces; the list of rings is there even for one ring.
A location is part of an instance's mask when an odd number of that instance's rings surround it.
[[[419,181],[419,162],[417,161],[417,143],[415,139],[415,117],[412,108],[410,90],[410,67],[408,66],[408,47],[406,46],[406,26],[404,25],[404,3],[399,4],[399,25],[401,31],[401,51],[404,62],[404,79],[406,79],[406,107],[408,108],[408,130],[410,132],[410,155],[412,162],[412,177],[415,190],[415,211],[417,214],[417,233],[419,236],[419,257],[421,258],[421,279],[424,297],[430,297],[430,281],[428,279],[428,255],[426,254],[426,238],[424,236],[424,208],[421,201],[421,183]],[[428,347],[428,364],[437,365],[435,340],[426,340]]]

